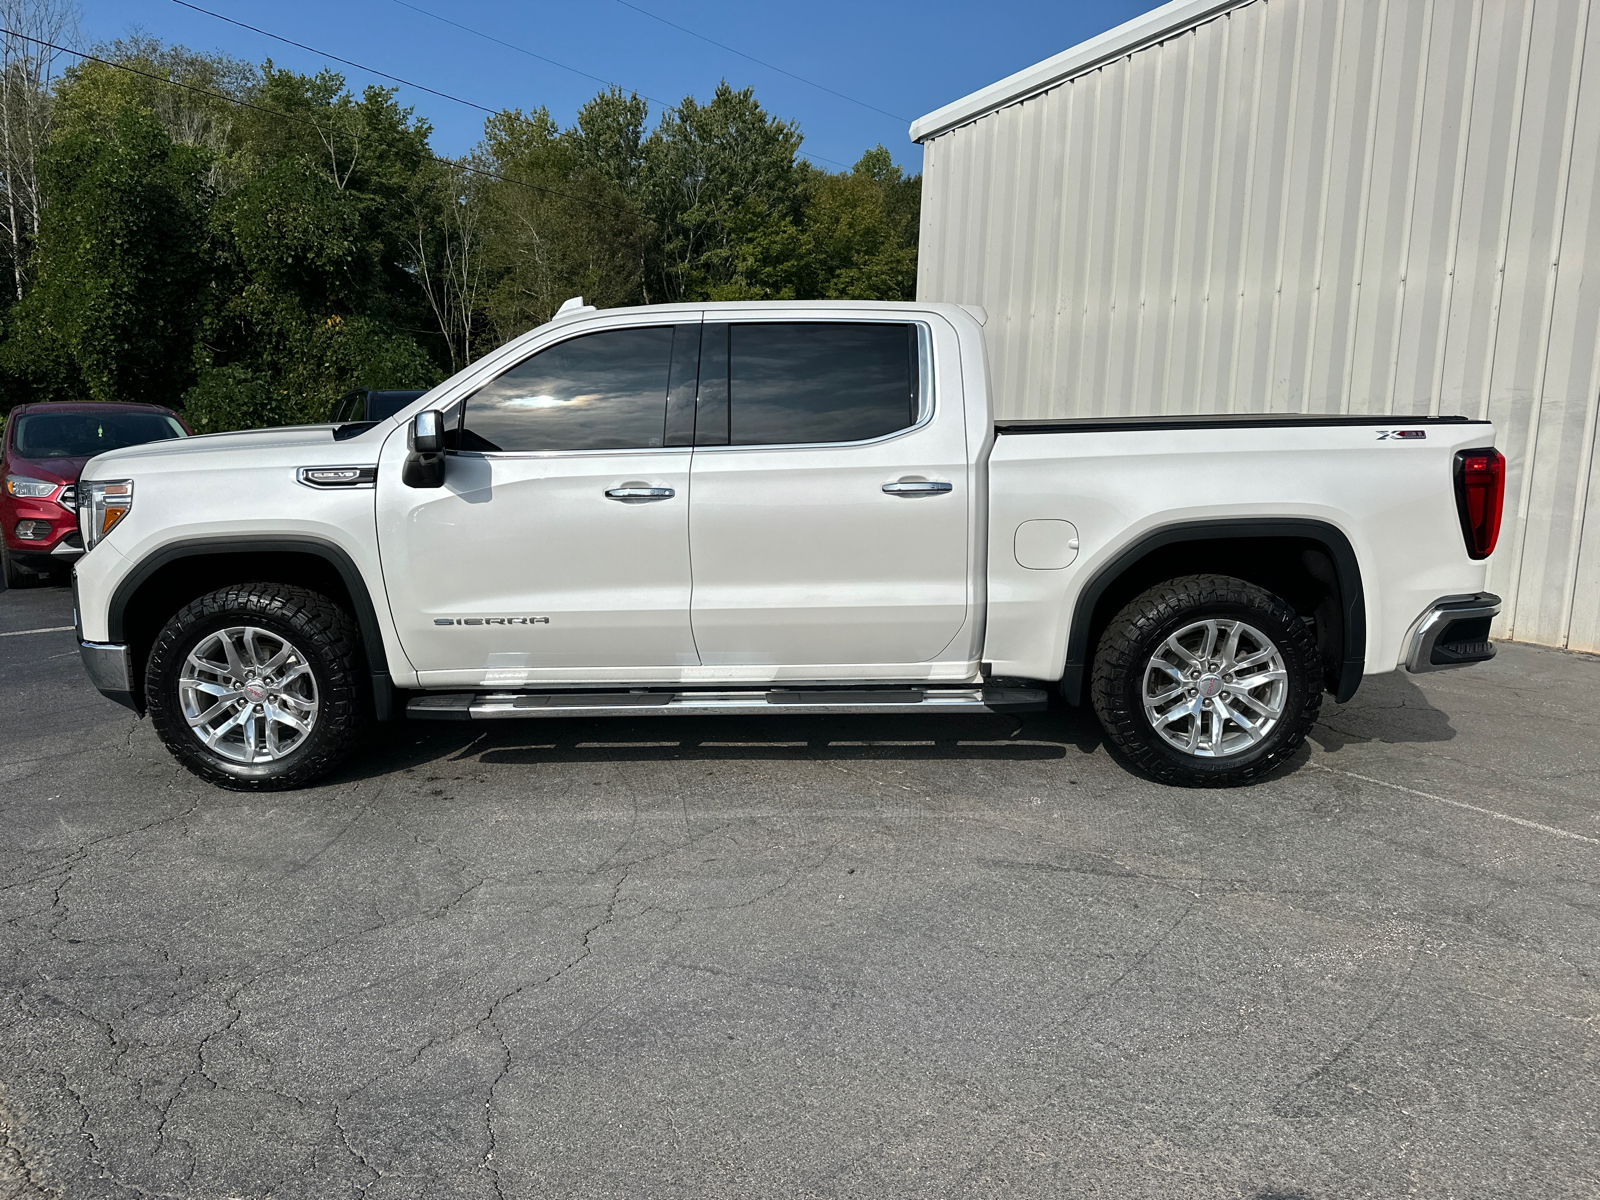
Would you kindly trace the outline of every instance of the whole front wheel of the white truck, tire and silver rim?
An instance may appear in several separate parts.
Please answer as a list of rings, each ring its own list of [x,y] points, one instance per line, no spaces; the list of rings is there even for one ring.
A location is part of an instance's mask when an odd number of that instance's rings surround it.
[[[349,613],[288,584],[237,584],[184,605],[144,672],[160,739],[234,790],[301,787],[349,754],[365,715]]]

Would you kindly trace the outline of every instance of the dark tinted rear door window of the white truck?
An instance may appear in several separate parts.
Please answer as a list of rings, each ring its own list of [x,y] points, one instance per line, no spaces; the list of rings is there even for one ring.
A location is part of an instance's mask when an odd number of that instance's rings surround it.
[[[912,325],[734,325],[728,440],[861,442],[917,424]]]

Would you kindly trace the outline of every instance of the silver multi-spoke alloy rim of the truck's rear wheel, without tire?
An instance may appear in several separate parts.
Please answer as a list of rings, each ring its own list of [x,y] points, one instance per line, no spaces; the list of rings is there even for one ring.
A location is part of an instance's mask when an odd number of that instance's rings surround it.
[[[1277,726],[1288,701],[1283,654],[1243,621],[1195,621],[1166,638],[1144,669],[1144,715],[1170,746],[1226,758]]]

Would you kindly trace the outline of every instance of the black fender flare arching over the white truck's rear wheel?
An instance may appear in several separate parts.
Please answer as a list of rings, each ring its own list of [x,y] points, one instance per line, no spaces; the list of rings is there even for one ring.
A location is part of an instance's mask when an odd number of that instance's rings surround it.
[[[1355,547],[1344,531],[1328,522],[1309,517],[1274,517],[1274,518],[1222,518],[1181,522],[1165,525],[1146,533],[1133,544],[1123,547],[1115,558],[1101,566],[1094,576],[1078,592],[1072,608],[1072,627],[1067,632],[1067,662],[1061,675],[1061,694],[1072,704],[1083,702],[1083,677],[1088,670],[1090,629],[1094,621],[1094,610],[1101,597],[1114,582],[1144,558],[1152,550],[1179,542],[1198,542],[1211,539],[1238,538],[1299,538],[1320,544],[1333,560],[1334,578],[1339,584],[1339,606],[1344,616],[1344,658],[1339,662],[1339,686],[1333,698],[1344,704],[1362,686],[1362,675],[1366,669],[1366,597],[1362,587],[1362,566],[1355,558]]]

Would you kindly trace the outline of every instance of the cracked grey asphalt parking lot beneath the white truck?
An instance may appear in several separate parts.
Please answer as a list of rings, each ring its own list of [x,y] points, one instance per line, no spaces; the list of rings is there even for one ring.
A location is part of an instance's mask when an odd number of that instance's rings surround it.
[[[221,792],[0,592],[0,1197],[1600,1195],[1600,659],[1235,792],[1091,720],[392,725]]]

